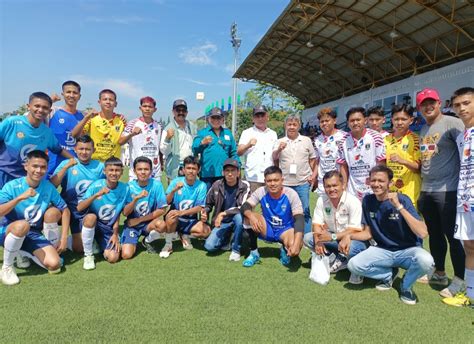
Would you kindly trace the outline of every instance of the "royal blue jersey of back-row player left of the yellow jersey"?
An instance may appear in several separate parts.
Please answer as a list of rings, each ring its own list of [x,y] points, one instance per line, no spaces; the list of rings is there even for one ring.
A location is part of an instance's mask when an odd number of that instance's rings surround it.
[[[71,155],[76,156],[74,146],[76,139],[72,137],[71,131],[84,118],[80,111],[69,113],[66,110],[57,110],[49,120],[49,127],[59,142],[62,149],[67,150]],[[52,175],[56,167],[66,158],[61,155],[49,154],[48,175]]]

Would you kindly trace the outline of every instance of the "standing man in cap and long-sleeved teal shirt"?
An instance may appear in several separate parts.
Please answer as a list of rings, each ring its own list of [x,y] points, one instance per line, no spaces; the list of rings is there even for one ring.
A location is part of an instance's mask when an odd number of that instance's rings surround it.
[[[237,160],[237,145],[229,129],[224,128],[224,113],[218,107],[211,110],[209,126],[198,131],[193,141],[194,155],[201,155],[201,180],[210,189],[212,184],[222,178],[224,161]]]

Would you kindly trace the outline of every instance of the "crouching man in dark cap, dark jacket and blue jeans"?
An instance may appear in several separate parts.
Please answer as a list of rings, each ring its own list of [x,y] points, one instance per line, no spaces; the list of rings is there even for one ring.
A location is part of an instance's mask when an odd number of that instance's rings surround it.
[[[209,252],[222,249],[233,231],[234,237],[229,261],[237,262],[240,260],[240,241],[243,228],[240,206],[247,200],[250,185],[239,178],[239,163],[235,159],[224,161],[223,174],[224,179],[212,184],[207,193],[204,210],[207,215],[211,213],[212,209],[214,209],[214,213],[211,220],[212,232],[206,239],[204,247]]]

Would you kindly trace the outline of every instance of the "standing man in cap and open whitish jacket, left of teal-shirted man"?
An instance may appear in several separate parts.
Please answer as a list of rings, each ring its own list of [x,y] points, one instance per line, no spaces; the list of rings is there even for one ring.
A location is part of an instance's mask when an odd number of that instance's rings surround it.
[[[196,127],[186,120],[187,115],[188,104],[186,104],[186,101],[183,99],[175,100],[173,102],[174,118],[161,135],[160,151],[166,159],[165,172],[168,181],[178,176],[184,158],[192,155]]]

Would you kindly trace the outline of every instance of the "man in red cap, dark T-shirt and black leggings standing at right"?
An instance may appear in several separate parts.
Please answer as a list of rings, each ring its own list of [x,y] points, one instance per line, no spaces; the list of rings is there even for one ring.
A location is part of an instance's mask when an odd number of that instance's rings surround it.
[[[454,239],[460,168],[456,139],[464,126],[458,118],[442,114],[439,94],[434,89],[425,88],[419,92],[416,105],[426,120],[420,131],[422,186],[418,209],[428,226],[430,251],[436,268],[431,276],[424,276],[419,281],[447,286],[440,295],[452,297],[465,289],[464,250],[461,242]],[[446,239],[455,276],[449,286],[444,267]]]

